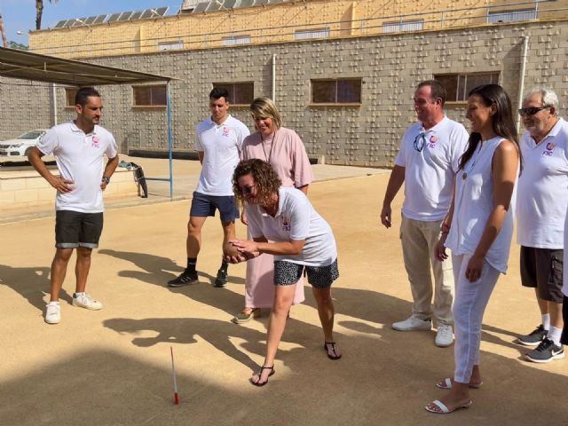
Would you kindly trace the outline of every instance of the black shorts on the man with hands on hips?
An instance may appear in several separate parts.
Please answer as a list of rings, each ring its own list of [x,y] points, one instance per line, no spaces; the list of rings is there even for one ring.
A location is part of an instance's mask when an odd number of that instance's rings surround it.
[[[73,210],[55,212],[55,247],[57,248],[98,248],[102,231],[102,213],[82,213]]]

